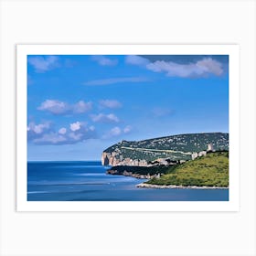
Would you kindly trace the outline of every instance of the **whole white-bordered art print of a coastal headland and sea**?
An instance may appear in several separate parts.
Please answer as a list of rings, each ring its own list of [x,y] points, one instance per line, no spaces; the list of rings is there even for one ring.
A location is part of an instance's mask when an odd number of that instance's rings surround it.
[[[239,210],[237,45],[17,45],[18,211]]]

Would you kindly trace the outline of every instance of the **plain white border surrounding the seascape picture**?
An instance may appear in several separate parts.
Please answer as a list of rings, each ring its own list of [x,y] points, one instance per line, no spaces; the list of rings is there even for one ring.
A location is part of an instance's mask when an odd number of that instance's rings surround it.
[[[229,55],[229,201],[27,201],[27,55]],[[17,45],[17,211],[239,211],[240,59],[238,45]]]

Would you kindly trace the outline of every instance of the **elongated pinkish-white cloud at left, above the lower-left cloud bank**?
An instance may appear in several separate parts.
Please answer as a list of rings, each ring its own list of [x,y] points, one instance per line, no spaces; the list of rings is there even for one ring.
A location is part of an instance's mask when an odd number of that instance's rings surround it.
[[[89,112],[92,109],[92,103],[85,101],[78,101],[75,104],[68,104],[64,101],[46,100],[41,103],[37,110],[48,111],[53,114],[67,114],[67,113],[82,113]]]

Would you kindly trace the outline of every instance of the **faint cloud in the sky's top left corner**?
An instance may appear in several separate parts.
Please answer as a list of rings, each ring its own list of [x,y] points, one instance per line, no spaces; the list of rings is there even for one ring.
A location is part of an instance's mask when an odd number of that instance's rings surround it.
[[[54,69],[59,66],[59,59],[56,56],[48,56],[48,57],[29,57],[27,59],[28,63],[33,66],[36,72],[43,73],[48,71],[49,69]]]

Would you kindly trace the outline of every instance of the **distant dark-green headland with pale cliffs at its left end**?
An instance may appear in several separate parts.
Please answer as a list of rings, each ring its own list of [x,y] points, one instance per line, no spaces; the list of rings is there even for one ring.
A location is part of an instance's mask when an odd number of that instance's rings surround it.
[[[216,151],[229,150],[229,133],[187,133],[144,141],[122,141],[104,150],[101,162],[102,165],[128,165],[129,161],[144,160],[140,163],[146,165],[158,158],[190,160],[192,153],[206,151],[208,144]]]

